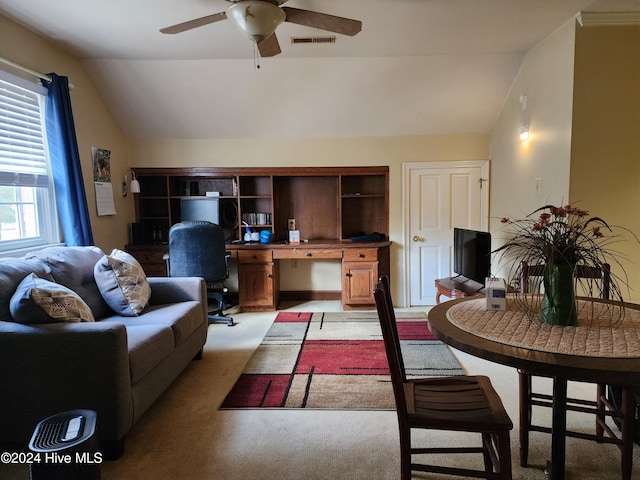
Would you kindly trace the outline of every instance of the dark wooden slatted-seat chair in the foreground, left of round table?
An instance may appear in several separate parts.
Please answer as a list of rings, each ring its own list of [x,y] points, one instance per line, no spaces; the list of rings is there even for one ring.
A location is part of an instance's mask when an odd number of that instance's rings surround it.
[[[407,379],[400,349],[389,279],[381,277],[374,290],[376,307],[398,415],[400,432],[400,478],[410,480],[412,471],[443,473],[474,478],[511,479],[513,423],[486,376]],[[479,433],[482,446],[417,448],[412,429]],[[437,442],[437,438],[434,438]],[[413,463],[414,455],[482,453],[484,470],[447,465]]]

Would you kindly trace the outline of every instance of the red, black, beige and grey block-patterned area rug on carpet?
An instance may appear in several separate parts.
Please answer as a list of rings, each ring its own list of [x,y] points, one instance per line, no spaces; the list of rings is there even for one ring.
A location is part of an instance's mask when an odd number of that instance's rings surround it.
[[[409,377],[464,375],[423,312],[396,312]],[[394,409],[376,312],[278,313],[222,409]]]

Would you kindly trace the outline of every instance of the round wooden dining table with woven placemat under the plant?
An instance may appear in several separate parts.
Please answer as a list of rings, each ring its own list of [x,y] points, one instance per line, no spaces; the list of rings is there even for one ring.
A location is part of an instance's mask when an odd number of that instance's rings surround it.
[[[567,381],[622,388],[622,478],[633,459],[634,391],[640,385],[640,305],[581,298],[578,325],[547,325],[513,296],[506,310],[488,310],[485,298],[461,298],[433,307],[429,328],[446,344],[491,362],[553,378],[549,477],[564,479]],[[584,318],[583,318],[584,317]],[[624,438],[623,438],[624,440]]]

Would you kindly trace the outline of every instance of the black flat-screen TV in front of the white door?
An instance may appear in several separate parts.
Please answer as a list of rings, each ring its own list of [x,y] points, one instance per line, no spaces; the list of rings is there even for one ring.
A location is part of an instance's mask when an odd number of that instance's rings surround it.
[[[491,273],[491,234],[454,228],[453,271],[484,285]]]

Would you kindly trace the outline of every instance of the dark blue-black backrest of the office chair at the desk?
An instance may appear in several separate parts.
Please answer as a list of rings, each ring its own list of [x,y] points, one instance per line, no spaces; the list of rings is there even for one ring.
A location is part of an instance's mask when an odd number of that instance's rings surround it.
[[[211,222],[176,223],[169,230],[169,276],[202,277],[207,282],[227,278],[225,235]]]

